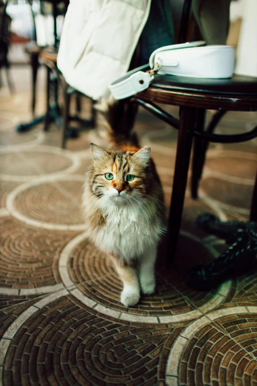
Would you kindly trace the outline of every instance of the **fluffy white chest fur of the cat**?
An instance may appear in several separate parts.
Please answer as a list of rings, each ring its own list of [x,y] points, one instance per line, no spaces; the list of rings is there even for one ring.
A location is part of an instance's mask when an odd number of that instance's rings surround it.
[[[95,243],[124,261],[139,257],[161,237],[161,221],[153,222],[143,205],[112,204],[105,208],[103,215],[106,224],[95,233]]]

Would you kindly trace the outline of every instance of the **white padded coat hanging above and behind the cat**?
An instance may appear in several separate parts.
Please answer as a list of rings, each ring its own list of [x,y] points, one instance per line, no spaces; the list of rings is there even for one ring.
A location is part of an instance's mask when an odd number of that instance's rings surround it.
[[[94,100],[125,74],[147,21],[151,0],[70,0],[57,66],[66,82]]]

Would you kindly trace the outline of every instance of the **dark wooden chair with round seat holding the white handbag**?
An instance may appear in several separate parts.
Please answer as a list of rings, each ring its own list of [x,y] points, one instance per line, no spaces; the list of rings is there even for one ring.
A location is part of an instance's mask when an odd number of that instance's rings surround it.
[[[191,0],[185,0],[181,17],[179,42],[186,41]],[[234,143],[257,137],[257,127],[248,133],[235,135],[213,134],[225,111],[257,111],[257,78],[233,75],[231,79],[199,79],[183,76],[156,75],[151,86],[135,95],[131,101],[178,129],[177,153],[171,205],[168,220],[167,254],[172,262],[179,236],[191,150],[194,143],[192,195],[197,197],[197,186],[207,143]],[[156,103],[180,107],[180,118],[168,114]],[[207,130],[204,129],[207,109],[217,110]],[[251,220],[257,220],[257,181],[254,188]]]

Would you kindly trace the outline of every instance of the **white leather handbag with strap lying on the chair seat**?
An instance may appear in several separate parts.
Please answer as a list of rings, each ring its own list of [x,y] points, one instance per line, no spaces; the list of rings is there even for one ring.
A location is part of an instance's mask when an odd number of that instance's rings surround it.
[[[112,96],[119,100],[146,90],[155,74],[194,78],[230,78],[235,65],[235,48],[228,45],[205,45],[205,41],[173,44],[155,50],[148,65],[128,71],[109,85]]]

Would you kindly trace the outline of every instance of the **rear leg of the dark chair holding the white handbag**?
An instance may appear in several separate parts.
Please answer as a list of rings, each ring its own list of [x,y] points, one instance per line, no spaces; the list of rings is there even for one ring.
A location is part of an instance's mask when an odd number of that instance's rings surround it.
[[[195,129],[199,132],[204,131],[206,110],[199,108],[196,112]],[[193,139],[193,158],[192,158],[192,176],[191,176],[191,196],[197,199],[198,184],[201,178],[198,175],[198,163],[201,154],[202,140],[199,138]]]

